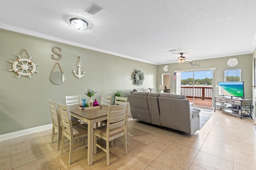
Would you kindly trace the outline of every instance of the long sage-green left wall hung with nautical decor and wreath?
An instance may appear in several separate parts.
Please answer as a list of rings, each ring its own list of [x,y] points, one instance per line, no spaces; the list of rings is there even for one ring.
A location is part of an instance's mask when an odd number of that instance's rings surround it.
[[[52,59],[52,48],[61,47],[62,59]],[[31,61],[36,64],[36,71],[28,76],[18,75],[12,69],[22,49],[26,49]],[[58,51],[58,50],[57,50]],[[58,57],[54,54],[55,57]],[[85,76],[76,78],[80,56],[81,72]],[[28,59],[26,53],[21,58]],[[60,64],[66,80],[61,85],[50,82],[49,76],[56,63]],[[65,104],[65,96],[78,95],[88,98],[87,88],[98,90],[93,97],[100,101],[102,94],[110,94],[114,88],[126,95],[134,88],[156,88],[157,66],[134,61],[106,53],[101,53],[47,39],[24,35],[0,29],[0,135],[52,123],[48,100]],[[134,69],[142,70],[145,80],[142,86],[132,84]],[[59,71],[58,66],[54,69]],[[89,100],[89,98],[88,98]]]

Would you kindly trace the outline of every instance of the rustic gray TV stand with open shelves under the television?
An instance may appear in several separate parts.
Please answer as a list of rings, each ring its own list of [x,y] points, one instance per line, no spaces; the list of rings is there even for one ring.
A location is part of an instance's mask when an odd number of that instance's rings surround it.
[[[240,115],[241,119],[242,117],[251,117],[252,119],[252,100],[250,99],[214,97],[214,111],[216,109]]]

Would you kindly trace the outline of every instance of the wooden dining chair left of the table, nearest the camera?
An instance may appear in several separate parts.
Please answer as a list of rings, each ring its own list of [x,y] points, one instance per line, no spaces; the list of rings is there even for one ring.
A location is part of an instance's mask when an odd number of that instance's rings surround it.
[[[62,105],[60,104],[60,102],[58,102],[58,107],[62,123],[61,154],[63,154],[64,152],[65,138],[67,138],[70,141],[68,164],[72,164],[73,151],[87,147],[87,144],[85,144],[85,137],[88,136],[88,126],[86,124],[72,126],[68,106]],[[74,140],[78,140],[81,138],[83,138],[83,145],[74,149]]]

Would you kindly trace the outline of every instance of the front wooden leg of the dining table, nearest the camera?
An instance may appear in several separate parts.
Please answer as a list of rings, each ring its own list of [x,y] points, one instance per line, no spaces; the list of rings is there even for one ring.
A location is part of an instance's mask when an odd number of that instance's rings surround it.
[[[92,165],[93,162],[93,122],[88,121],[88,153],[87,153],[87,160],[88,165]]]

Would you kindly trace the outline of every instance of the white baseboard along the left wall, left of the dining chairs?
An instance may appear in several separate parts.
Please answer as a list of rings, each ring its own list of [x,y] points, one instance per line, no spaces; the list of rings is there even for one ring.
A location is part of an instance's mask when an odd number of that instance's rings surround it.
[[[14,137],[20,137],[20,136],[23,136],[23,135],[28,135],[30,133],[44,131],[44,130],[47,130],[47,129],[52,129],[52,123],[48,124],[48,125],[42,125],[42,126],[30,128],[30,129],[24,129],[24,130],[21,130],[21,131],[16,131],[16,132],[6,133],[6,134],[3,134],[3,135],[0,135],[0,141],[4,141],[4,140],[11,139],[11,138],[14,138]]]

